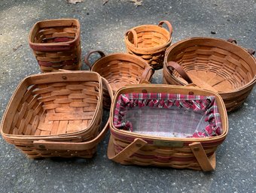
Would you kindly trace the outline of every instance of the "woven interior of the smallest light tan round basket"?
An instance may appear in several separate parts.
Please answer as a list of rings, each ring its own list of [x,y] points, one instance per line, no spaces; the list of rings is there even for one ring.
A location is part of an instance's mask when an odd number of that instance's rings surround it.
[[[166,29],[159,26],[139,26],[134,29],[138,37],[138,47],[160,47],[169,42],[170,34]],[[129,41],[133,44],[133,38]]]

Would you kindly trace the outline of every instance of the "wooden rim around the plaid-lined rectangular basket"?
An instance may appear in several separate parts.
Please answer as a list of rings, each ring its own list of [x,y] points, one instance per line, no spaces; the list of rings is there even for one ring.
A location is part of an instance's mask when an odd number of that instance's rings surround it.
[[[157,137],[157,136],[151,136],[151,135],[145,135],[145,134],[138,134],[138,133],[133,133],[131,131],[123,131],[120,129],[117,129],[114,127],[114,109],[115,109],[115,104],[117,102],[117,98],[120,95],[120,92],[125,91],[126,89],[134,89],[134,88],[139,88],[139,89],[147,89],[147,88],[163,88],[163,89],[184,89],[187,91],[203,91],[206,93],[209,93],[210,95],[214,95],[215,98],[217,98],[217,100],[220,102],[220,104],[218,104],[218,107],[221,107],[221,109],[219,109],[219,112],[223,114],[224,116],[224,121],[226,124],[223,124],[223,133],[221,135],[218,135],[216,137],[191,137],[191,138],[185,138],[185,137]],[[178,93],[178,92],[177,92]],[[195,88],[195,87],[191,87],[191,86],[175,86],[175,85],[164,85],[164,84],[143,84],[143,85],[131,85],[131,86],[126,86],[123,87],[121,89],[118,89],[117,92],[114,95],[114,99],[113,102],[111,104],[111,110],[110,110],[110,131],[111,133],[114,134],[119,134],[119,135],[124,135],[126,137],[133,137],[133,138],[141,138],[144,140],[161,140],[161,141],[179,141],[179,142],[184,142],[184,143],[193,143],[193,142],[205,142],[205,143],[209,143],[209,142],[215,142],[215,141],[220,141],[220,140],[224,140],[224,138],[227,136],[228,133],[228,119],[227,119],[227,111],[225,110],[225,106],[224,106],[224,101],[221,98],[221,95],[218,95],[218,93],[216,92],[212,92],[206,89],[199,89],[199,88]],[[226,125],[226,127],[224,127],[224,125]]]

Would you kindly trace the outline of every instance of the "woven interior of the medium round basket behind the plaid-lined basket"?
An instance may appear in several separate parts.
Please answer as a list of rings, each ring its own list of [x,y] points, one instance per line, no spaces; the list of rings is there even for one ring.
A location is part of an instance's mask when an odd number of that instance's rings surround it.
[[[148,64],[140,59],[127,54],[117,54],[99,59],[93,65],[92,71],[105,77],[113,92],[116,92],[127,84],[139,83],[147,67]]]

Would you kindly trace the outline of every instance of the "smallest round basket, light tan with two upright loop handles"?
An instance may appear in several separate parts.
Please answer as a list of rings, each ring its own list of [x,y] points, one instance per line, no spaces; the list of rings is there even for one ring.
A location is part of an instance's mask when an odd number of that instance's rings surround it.
[[[169,31],[162,27],[163,23]],[[128,53],[145,59],[157,70],[163,68],[164,53],[172,43],[172,25],[168,21],[160,21],[158,26],[136,26],[126,32],[124,41]]]

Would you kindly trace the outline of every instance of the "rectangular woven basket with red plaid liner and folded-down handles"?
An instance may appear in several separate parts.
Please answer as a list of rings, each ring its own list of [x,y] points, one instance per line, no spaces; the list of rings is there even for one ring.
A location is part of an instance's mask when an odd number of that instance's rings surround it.
[[[216,122],[221,122],[222,131],[217,129],[216,131],[218,131],[218,135],[215,137],[164,137],[165,135],[159,137],[158,135],[155,135],[155,133],[152,134],[152,132],[149,131],[145,134],[145,131],[141,128],[146,128],[146,130],[157,130],[162,128],[163,125],[166,125],[166,132],[172,135],[169,128],[174,128],[179,132],[190,126],[190,119],[179,121],[178,119],[180,119],[180,115],[177,116],[177,114],[175,114],[176,111],[173,113],[175,115],[173,117],[169,114],[171,111],[168,111],[168,113],[167,111],[164,111],[166,110],[166,107],[162,106],[164,106],[165,103],[162,104],[160,98],[158,98],[162,96],[160,93],[163,92],[167,93],[166,95],[168,95],[168,93],[177,95],[177,98],[178,95],[187,95],[187,98],[197,98],[195,95],[200,95],[201,98],[206,98],[207,96],[207,99],[203,99],[206,103],[209,100],[208,96],[212,96],[211,98],[215,98],[215,106],[211,106],[209,110],[207,106],[205,110],[208,110],[207,112],[215,112],[216,109],[218,110],[216,111],[218,113],[215,113],[212,117],[215,118]],[[133,95],[137,95],[137,97],[130,98],[131,100],[127,103],[127,93],[132,93]],[[142,101],[143,97],[141,98],[141,96],[143,93],[145,93],[144,96],[147,97],[149,96],[149,93],[155,93],[155,95],[157,95],[157,100],[159,99],[159,101],[153,101],[153,103]],[[128,105],[126,106],[127,108],[123,108],[119,100],[120,97],[123,98],[124,104],[130,103],[130,106]],[[182,110],[182,107],[185,107],[185,105],[181,107],[179,106],[180,104],[177,105],[177,101],[174,101],[173,107],[177,106],[177,110]],[[147,111],[147,107],[150,107],[151,104],[154,106],[154,109],[149,108]],[[136,109],[136,107],[138,108]],[[143,107],[145,107],[144,111]],[[128,110],[131,110],[130,112],[132,113],[129,114]],[[157,111],[157,114],[154,114],[154,110],[159,111]],[[169,110],[172,109],[169,108]],[[148,112],[148,114],[146,112]],[[186,112],[189,113],[191,111]],[[194,115],[197,114],[196,110],[192,112],[194,112]],[[154,165],[204,171],[214,170],[215,150],[218,145],[224,141],[228,131],[227,111],[225,110],[224,102],[220,95],[215,92],[197,89],[191,86],[126,86],[125,88],[118,90],[116,95],[114,95],[110,113],[111,137],[108,143],[108,158],[119,162],[120,164]],[[117,114],[120,116],[117,116]],[[122,119],[126,122],[118,125],[119,123],[116,122],[116,120],[119,120],[120,117],[123,117]],[[170,121],[175,122],[176,125],[173,125],[174,123],[168,123]],[[133,127],[131,126],[131,123]],[[158,124],[157,128],[154,128],[154,125],[156,124]],[[117,125],[119,128],[117,128]],[[128,126],[133,128],[133,131],[131,131],[131,129],[130,131],[126,131],[125,128]],[[184,127],[182,128],[182,126]],[[157,134],[161,134],[161,131],[157,130]]]

